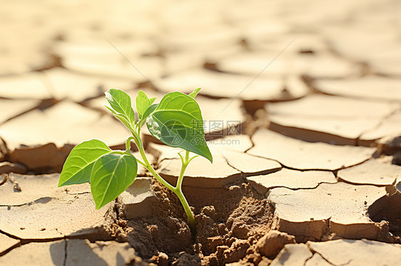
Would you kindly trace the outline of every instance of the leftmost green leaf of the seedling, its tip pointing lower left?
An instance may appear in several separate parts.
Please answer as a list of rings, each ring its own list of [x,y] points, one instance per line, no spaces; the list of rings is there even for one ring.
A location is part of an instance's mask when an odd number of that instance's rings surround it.
[[[97,139],[76,145],[68,155],[59,179],[59,187],[89,182],[95,161],[111,149]]]

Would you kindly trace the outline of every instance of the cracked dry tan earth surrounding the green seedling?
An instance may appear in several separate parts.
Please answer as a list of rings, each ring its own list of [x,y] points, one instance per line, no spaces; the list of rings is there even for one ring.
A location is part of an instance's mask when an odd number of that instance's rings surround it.
[[[399,265],[400,8],[3,1],[0,265]],[[183,181],[196,236],[145,169],[100,210],[88,184],[57,188],[74,145],[123,149],[111,87],[159,100],[203,87],[213,164]],[[143,138],[175,183],[176,151]]]

